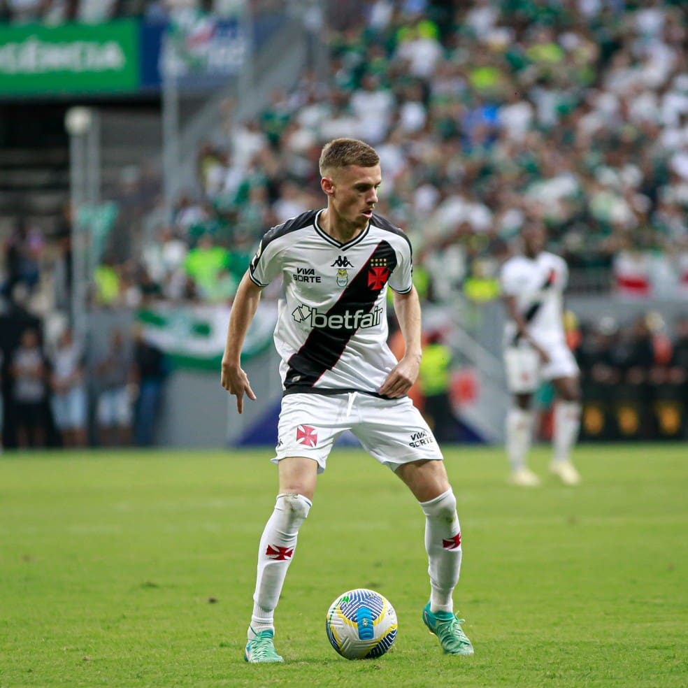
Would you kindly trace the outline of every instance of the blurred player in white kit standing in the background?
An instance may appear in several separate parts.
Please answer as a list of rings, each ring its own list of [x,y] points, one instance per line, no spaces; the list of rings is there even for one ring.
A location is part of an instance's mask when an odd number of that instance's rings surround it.
[[[554,456],[550,471],[566,485],[578,485],[571,447],[580,429],[578,365],[566,344],[563,294],[568,280],[566,261],[545,251],[545,228],[532,221],[521,232],[523,255],[501,268],[506,302],[504,365],[513,406],[506,417],[506,450],[511,482],[537,487],[540,478],[527,464],[533,431],[533,393],[540,380],[551,380],[554,406]]]

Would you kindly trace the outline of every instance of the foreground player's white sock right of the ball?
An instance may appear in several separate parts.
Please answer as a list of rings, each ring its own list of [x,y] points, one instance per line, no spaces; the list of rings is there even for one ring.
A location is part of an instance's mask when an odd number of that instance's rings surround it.
[[[461,571],[461,526],[457,500],[452,489],[427,502],[421,502],[425,514],[425,549],[430,574],[430,611],[453,612],[452,592]]]

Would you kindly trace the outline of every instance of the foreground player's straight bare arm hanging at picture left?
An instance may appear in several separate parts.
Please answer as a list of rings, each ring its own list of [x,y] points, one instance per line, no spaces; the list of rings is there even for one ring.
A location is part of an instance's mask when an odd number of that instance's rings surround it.
[[[241,369],[241,347],[246,338],[248,327],[256,314],[261,292],[261,287],[255,284],[247,271],[236,290],[229,315],[227,343],[224,346],[224,355],[222,356],[221,382],[222,387],[227,389],[229,394],[236,395],[236,410],[239,413],[243,411],[244,394],[249,399],[256,399],[248,381],[248,375]]]

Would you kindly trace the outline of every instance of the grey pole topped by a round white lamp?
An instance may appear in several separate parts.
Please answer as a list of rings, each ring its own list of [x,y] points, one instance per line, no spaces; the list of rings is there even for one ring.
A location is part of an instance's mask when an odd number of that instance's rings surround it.
[[[71,203],[71,326],[75,341],[84,342],[87,309],[87,248],[82,210],[87,201],[87,135],[93,115],[89,108],[69,108],[64,126],[69,134],[69,187]]]

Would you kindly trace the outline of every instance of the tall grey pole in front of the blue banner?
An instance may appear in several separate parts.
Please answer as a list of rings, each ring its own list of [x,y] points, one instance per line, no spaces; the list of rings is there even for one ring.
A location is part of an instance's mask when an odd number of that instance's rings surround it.
[[[180,174],[179,87],[169,34],[164,34],[162,58],[162,159],[164,205],[171,221]]]

